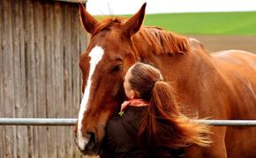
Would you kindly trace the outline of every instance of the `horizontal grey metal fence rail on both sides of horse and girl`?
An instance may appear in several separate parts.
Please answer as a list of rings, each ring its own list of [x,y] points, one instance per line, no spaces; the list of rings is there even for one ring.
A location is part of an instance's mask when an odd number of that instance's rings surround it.
[[[0,118],[0,126],[74,126],[77,118]],[[256,126],[256,120],[193,120],[210,126]]]

